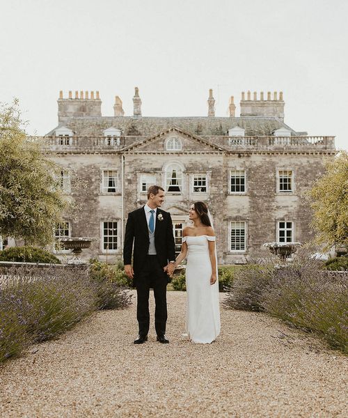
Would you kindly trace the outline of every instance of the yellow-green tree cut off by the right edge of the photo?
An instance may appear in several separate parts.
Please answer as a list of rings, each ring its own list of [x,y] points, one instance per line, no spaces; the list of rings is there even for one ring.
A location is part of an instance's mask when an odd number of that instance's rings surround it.
[[[309,196],[317,242],[329,249],[333,245],[348,245],[348,153],[340,152],[325,167],[326,173],[317,180]]]

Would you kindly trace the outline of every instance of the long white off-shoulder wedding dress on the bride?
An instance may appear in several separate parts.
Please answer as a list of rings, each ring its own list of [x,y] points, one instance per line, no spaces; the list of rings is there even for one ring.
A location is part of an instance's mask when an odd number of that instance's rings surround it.
[[[212,343],[220,334],[219,281],[210,284],[212,263],[208,240],[215,241],[215,237],[199,235],[182,238],[183,242],[187,242],[186,331],[195,343]]]

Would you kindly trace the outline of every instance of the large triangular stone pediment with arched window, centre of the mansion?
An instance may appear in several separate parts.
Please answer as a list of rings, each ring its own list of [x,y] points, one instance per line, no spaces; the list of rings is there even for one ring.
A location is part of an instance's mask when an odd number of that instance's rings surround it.
[[[169,146],[168,146],[169,144]],[[159,134],[123,148],[129,153],[221,153],[225,148],[212,144],[198,135],[171,127]]]

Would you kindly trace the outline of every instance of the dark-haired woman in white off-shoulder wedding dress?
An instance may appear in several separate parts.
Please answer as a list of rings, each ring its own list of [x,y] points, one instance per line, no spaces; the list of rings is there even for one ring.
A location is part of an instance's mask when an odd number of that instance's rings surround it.
[[[219,281],[212,218],[204,202],[189,210],[191,226],[182,233],[182,249],[175,260],[187,257],[186,329],[194,343],[212,343],[220,333]]]

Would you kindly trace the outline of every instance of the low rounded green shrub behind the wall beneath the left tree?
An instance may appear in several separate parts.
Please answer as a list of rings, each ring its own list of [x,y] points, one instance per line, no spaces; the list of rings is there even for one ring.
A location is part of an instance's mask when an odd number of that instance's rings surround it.
[[[61,261],[49,251],[29,245],[3,249],[0,251],[0,261],[61,264]]]

